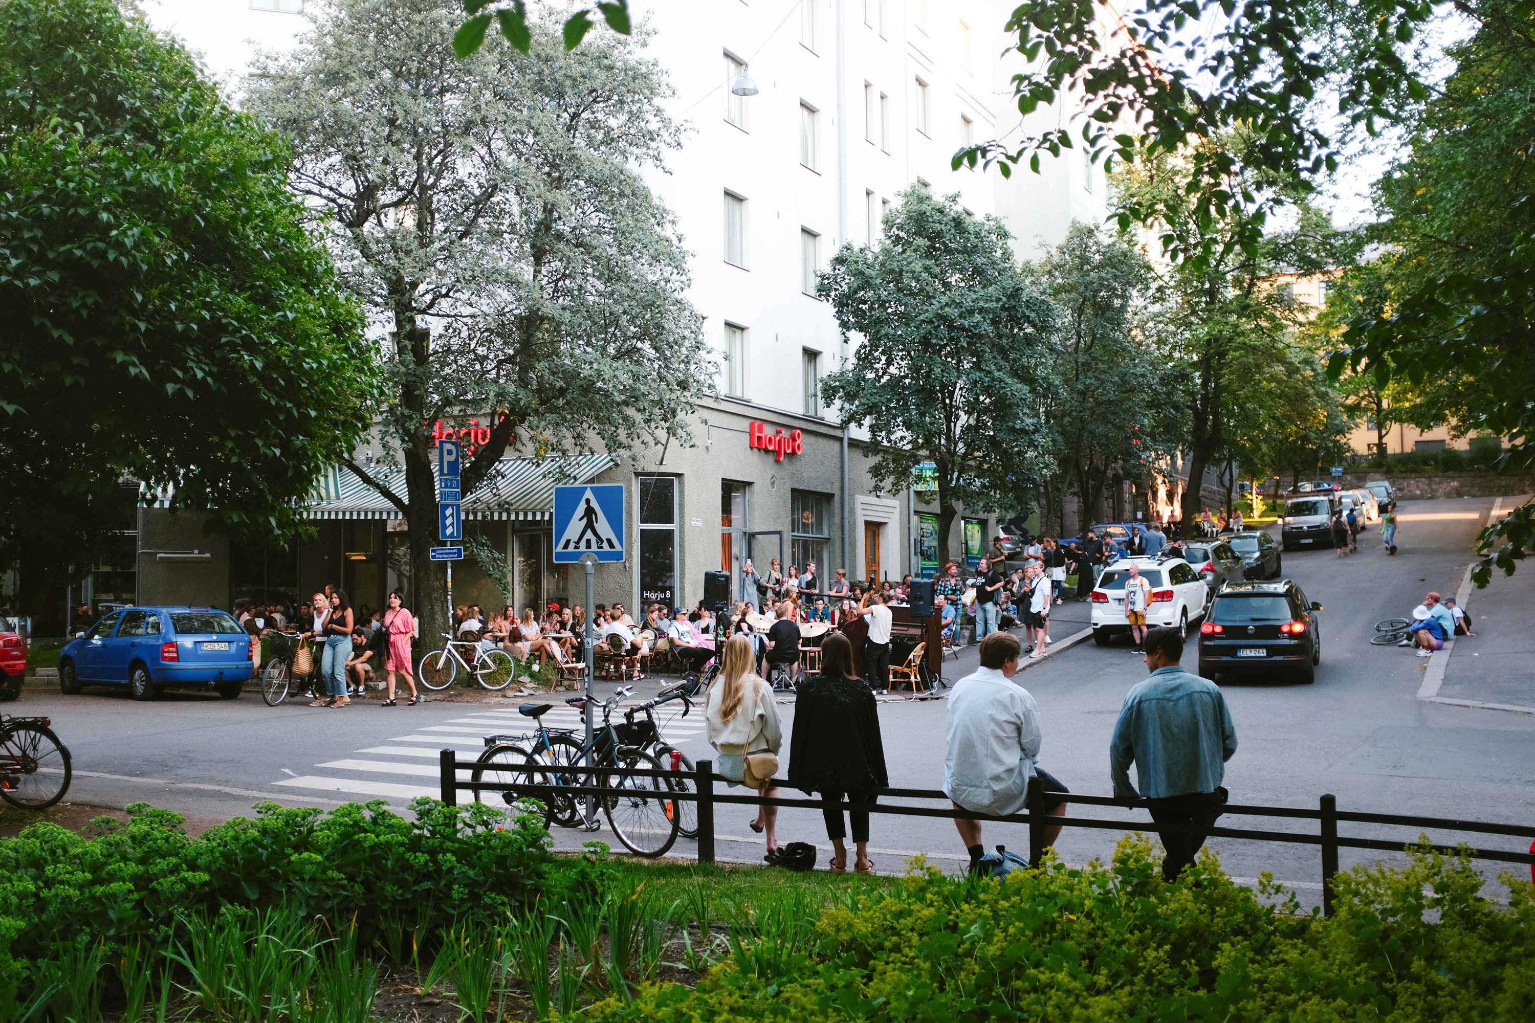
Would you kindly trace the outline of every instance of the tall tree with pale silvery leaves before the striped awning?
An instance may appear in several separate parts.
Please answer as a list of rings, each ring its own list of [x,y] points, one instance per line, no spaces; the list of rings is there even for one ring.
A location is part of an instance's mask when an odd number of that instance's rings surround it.
[[[266,58],[250,109],[292,138],[293,187],[327,229],[382,333],[381,440],[405,486],[348,472],[408,523],[424,635],[445,632],[434,442],[425,423],[485,416],[470,497],[507,456],[686,439],[711,388],[686,253],[642,172],[678,141],[665,77],[637,40],[459,58],[453,0],[339,0]]]

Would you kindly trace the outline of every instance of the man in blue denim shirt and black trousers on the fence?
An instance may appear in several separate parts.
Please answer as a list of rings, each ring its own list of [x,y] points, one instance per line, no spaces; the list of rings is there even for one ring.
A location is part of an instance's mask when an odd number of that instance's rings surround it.
[[[1108,773],[1114,799],[1148,799],[1151,821],[1176,828],[1162,831],[1162,880],[1171,882],[1194,862],[1226,805],[1230,793],[1220,782],[1237,752],[1237,730],[1220,689],[1179,667],[1177,629],[1153,629],[1145,646],[1151,678],[1137,683],[1119,709]],[[1131,764],[1139,785],[1130,784]]]

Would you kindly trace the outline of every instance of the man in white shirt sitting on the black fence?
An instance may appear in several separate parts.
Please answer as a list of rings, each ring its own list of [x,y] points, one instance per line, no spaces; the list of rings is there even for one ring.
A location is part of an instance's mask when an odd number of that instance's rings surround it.
[[[1045,790],[1045,813],[1065,816],[1065,785],[1038,764],[1044,732],[1039,706],[1013,683],[1022,646],[1018,636],[993,632],[981,640],[981,666],[955,683],[947,707],[949,753],[944,758],[944,794],[955,810],[1007,816],[1028,801],[1028,781]],[[955,817],[959,840],[975,871],[985,854],[981,822]],[[1045,848],[1055,845],[1061,825],[1045,828]]]

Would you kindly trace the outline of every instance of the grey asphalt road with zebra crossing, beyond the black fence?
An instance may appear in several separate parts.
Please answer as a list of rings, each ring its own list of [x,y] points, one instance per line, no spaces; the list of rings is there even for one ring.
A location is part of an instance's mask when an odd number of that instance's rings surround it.
[[[1395,557],[1378,548],[1374,532],[1365,534],[1362,552],[1349,558],[1339,560],[1331,551],[1285,555],[1285,574],[1325,606],[1322,667],[1312,686],[1223,684],[1240,745],[1226,767],[1233,802],[1315,807],[1319,796],[1332,793],[1345,810],[1501,822],[1535,819],[1535,719],[1418,702],[1415,692],[1424,661],[1409,650],[1368,643],[1377,620],[1406,615],[1429,589],[1455,590],[1490,503],[1403,503]],[[1073,629],[1061,629],[1062,636]],[[1190,643],[1183,664],[1193,669],[1194,661]],[[956,676],[952,661],[946,673]],[[1073,791],[1108,794],[1108,736],[1125,692],[1145,673],[1128,647],[1087,643],[1015,679],[1039,702],[1045,730],[1041,764]],[[944,701],[881,704],[892,785],[939,787],[944,706]],[[198,822],[249,813],[261,799],[290,805],[387,799],[404,805],[413,796],[436,794],[436,753],[444,745],[460,748],[468,759],[482,747],[482,735],[520,730],[516,702],[510,699],[318,710],[302,704],[270,709],[253,693],[238,701],[167,695],[140,704],[103,690],[66,698],[32,686],[8,710],[54,718],[55,730],[74,755],[71,799],[114,807],[149,801]],[[792,706],[781,710],[792,730]],[[694,758],[709,752],[697,716],[663,725],[663,733]],[[1124,817],[1130,825],[1145,821],[1142,814],[1119,810],[1078,813]],[[760,856],[760,839],[746,827],[749,816],[741,807],[720,808],[721,857]],[[1222,824],[1296,830],[1274,819],[1226,816]],[[1343,833],[1415,837],[1378,825],[1345,825]],[[560,845],[579,847],[588,837],[609,836],[602,831],[557,837]],[[1067,830],[1059,853],[1071,862],[1107,857],[1117,837],[1111,831]],[[1469,834],[1434,837],[1475,840]],[[784,811],[780,840],[792,839],[824,847],[820,813]],[[990,825],[985,839],[1027,848],[1022,827]],[[1526,848],[1517,839],[1483,842],[1514,851]],[[958,868],[964,856],[952,824],[944,819],[875,817],[870,845],[883,873],[898,873],[916,853],[927,853],[933,863],[949,870]],[[1214,839],[1211,847],[1236,877],[1256,879],[1268,871],[1291,883],[1305,902],[1319,897],[1315,848],[1240,839]],[[675,851],[689,854],[692,848],[678,842]],[[1343,851],[1345,867],[1368,859],[1374,854]],[[1489,867],[1489,877],[1498,870]]]

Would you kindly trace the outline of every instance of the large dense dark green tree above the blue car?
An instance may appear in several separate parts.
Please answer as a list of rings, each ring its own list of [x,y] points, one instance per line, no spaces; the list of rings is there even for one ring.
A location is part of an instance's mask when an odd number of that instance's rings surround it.
[[[373,360],[287,161],[114,0],[0,2],[0,462],[38,485],[0,564],[23,586],[89,566],[124,482],[269,538],[352,454]]]

